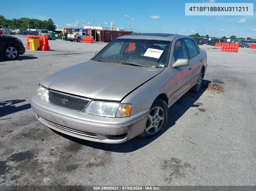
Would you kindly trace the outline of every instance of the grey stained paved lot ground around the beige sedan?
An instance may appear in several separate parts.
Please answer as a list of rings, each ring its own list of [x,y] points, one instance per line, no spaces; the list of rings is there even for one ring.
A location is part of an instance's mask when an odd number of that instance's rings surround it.
[[[39,80],[106,45],[49,44],[51,51],[0,58],[0,186],[255,185],[255,50],[200,46],[208,53],[204,86],[170,108],[166,131],[109,145],[57,134],[36,120],[30,100]],[[224,92],[206,89],[210,82]]]

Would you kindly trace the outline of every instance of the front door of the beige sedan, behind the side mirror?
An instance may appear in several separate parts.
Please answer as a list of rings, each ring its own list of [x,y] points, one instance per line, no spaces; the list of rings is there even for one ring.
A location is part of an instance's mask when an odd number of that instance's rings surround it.
[[[176,100],[178,100],[188,89],[188,66],[180,66],[173,68],[173,64],[178,59],[188,59],[188,51],[185,45],[185,42],[183,38],[178,39],[174,46],[172,45],[171,53],[173,53],[170,56],[172,57],[172,63],[168,65],[168,67],[171,70],[172,78],[170,81],[168,81],[168,89],[170,92],[168,92],[168,99],[169,99],[169,106],[175,103]]]

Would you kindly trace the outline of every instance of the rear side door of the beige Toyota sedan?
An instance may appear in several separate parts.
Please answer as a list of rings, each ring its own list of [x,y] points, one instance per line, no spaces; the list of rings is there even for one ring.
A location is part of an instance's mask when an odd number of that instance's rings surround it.
[[[188,77],[190,79],[190,86],[192,86],[198,80],[198,74],[201,72],[203,65],[202,55],[197,44],[190,38],[184,39],[188,49],[189,65],[188,65]]]

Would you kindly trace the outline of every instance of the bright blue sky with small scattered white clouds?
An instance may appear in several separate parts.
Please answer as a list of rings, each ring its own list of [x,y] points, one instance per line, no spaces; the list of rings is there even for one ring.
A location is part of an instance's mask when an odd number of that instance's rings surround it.
[[[59,2],[59,3],[57,3]],[[0,9],[7,19],[52,18],[59,28],[79,28],[84,25],[133,29],[141,33],[178,33],[190,35],[199,33],[210,37],[235,35],[236,37],[256,38],[256,1],[255,0],[130,0],[130,1],[52,1],[44,0],[35,8],[29,3],[12,1],[12,8]],[[253,16],[185,16],[185,3],[254,3]],[[45,5],[44,5],[45,4]],[[71,6],[73,4],[73,6]],[[8,7],[2,1],[1,7]],[[17,6],[15,6],[17,5]],[[52,6],[51,6],[52,5]],[[131,26],[131,27],[129,27]]]

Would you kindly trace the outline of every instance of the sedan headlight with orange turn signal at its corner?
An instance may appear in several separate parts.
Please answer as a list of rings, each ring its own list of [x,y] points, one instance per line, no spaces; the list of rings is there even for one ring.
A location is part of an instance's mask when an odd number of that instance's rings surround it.
[[[103,101],[91,101],[85,109],[85,113],[103,117],[128,117],[131,112],[130,103],[114,103]]]

